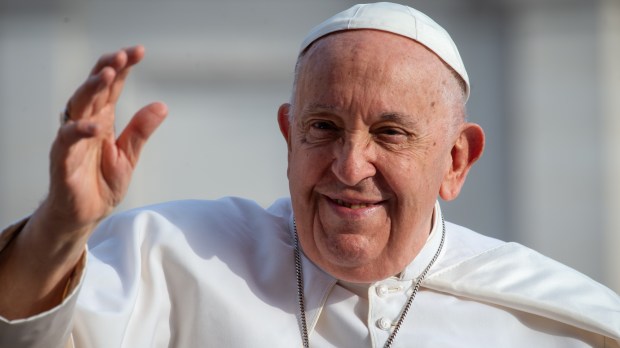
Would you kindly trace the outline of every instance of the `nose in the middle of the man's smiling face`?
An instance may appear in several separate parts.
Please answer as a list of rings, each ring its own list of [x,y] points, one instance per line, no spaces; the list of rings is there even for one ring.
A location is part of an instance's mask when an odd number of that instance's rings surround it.
[[[355,186],[376,174],[373,162],[371,143],[362,139],[346,139],[334,149],[332,172],[343,184]]]

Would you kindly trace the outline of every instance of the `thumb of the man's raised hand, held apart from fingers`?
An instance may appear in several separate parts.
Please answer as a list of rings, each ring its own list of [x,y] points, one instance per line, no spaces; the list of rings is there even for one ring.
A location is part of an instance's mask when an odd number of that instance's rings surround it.
[[[118,137],[116,144],[120,152],[135,167],[140,152],[148,138],[168,115],[168,107],[164,103],[152,103],[138,111]]]

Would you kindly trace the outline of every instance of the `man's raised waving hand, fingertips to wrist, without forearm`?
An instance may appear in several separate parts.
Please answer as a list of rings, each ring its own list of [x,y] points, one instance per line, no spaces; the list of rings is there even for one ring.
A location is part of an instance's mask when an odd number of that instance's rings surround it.
[[[166,115],[153,103],[138,111],[118,139],[114,109],[140,46],[102,56],[67,103],[70,120],[60,128],[51,157],[47,214],[69,229],[96,224],[127,191],[142,146]]]

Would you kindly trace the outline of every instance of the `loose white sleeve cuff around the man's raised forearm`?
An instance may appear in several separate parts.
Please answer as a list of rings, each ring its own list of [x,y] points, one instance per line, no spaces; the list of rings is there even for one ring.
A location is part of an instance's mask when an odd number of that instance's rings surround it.
[[[27,221],[19,221],[0,233],[0,252]],[[25,319],[7,320],[0,316],[0,348],[72,347],[71,327],[85,268],[86,252],[69,278],[65,297],[58,306]]]

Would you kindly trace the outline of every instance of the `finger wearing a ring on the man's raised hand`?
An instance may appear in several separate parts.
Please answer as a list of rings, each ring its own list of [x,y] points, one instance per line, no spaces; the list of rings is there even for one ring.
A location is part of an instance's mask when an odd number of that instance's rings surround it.
[[[80,120],[97,113],[109,97],[108,89],[115,76],[115,70],[109,67],[90,76],[67,102],[67,113],[71,119]]]

